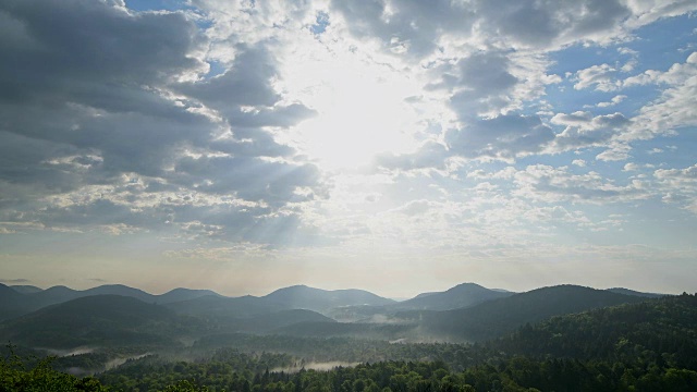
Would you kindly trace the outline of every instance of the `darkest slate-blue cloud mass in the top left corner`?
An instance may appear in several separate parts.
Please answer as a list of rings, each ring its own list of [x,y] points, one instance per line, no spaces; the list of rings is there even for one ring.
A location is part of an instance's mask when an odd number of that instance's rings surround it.
[[[204,65],[187,56],[197,45],[196,26],[182,13],[134,15],[83,0],[10,0],[0,10],[21,26],[0,37],[0,48],[12,54],[0,63],[0,99],[13,103],[143,110],[150,94],[138,87]],[[17,37],[33,45],[22,46]]]

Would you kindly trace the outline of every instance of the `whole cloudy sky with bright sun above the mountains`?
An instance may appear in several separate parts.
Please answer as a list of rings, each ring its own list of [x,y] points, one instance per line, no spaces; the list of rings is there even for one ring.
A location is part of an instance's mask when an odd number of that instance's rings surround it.
[[[0,282],[697,291],[697,3],[3,0]]]

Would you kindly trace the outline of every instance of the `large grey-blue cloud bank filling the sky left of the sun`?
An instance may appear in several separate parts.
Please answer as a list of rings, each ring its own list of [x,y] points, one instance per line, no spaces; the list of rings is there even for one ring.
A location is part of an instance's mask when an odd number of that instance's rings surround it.
[[[182,12],[10,0],[0,15],[3,221],[269,241],[261,228],[301,225],[281,209],[325,194],[315,166],[266,159],[295,154],[269,127],[314,111],[281,103],[265,42],[232,42],[206,79],[207,39]]]

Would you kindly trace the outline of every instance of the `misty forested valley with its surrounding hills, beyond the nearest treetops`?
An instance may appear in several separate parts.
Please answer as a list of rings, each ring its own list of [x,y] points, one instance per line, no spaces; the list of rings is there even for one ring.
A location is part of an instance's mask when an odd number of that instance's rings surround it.
[[[115,390],[158,390],[193,379],[194,384],[180,387],[237,390],[271,380],[297,385],[292,380],[307,371],[323,379],[326,372],[376,364],[394,376],[398,369],[388,368],[424,364],[418,366],[469,373],[466,382],[454,384],[488,391],[496,389],[470,382],[484,377],[477,376],[481,369],[503,380],[511,366],[545,372],[552,366],[547,362],[572,359],[585,364],[574,371],[592,373],[596,381],[614,377],[619,383],[624,372],[604,375],[592,366],[622,364],[626,371],[638,362],[644,369],[634,376],[635,384],[670,369],[683,371],[678,381],[686,385],[697,382],[697,301],[687,294],[576,285],[512,293],[475,283],[403,302],[304,285],[241,297],[187,289],[151,295],[123,285],[86,291],[0,286],[0,338],[9,348],[24,356],[52,355],[56,371],[96,377]],[[228,370],[213,377],[219,370],[210,367]],[[223,382],[225,375],[237,379]],[[421,381],[442,388],[444,376],[433,377]],[[518,387],[529,381],[505,377]],[[143,384],[144,378],[150,383]]]

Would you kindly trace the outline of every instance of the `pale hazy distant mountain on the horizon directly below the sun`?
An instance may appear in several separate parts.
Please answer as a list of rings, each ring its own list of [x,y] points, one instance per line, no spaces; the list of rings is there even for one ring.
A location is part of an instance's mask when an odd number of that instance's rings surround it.
[[[279,289],[262,298],[291,309],[326,313],[331,308],[355,305],[389,305],[395,301],[383,298],[364,290],[321,290],[306,285]]]

